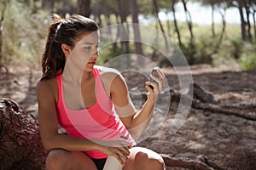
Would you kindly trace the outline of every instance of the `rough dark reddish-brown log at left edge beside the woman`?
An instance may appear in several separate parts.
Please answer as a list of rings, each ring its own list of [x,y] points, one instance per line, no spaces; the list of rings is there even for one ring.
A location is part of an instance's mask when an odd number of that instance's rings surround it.
[[[38,123],[15,101],[0,99],[0,169],[44,169]]]

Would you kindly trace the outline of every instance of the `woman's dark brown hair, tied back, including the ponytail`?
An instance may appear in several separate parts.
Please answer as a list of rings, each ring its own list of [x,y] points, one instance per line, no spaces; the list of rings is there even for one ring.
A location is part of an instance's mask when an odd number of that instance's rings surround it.
[[[99,27],[93,20],[73,14],[67,19],[61,19],[58,14],[53,14],[54,21],[49,25],[48,37],[42,57],[42,80],[56,77],[57,71],[63,71],[65,66],[65,55],[62,52],[61,44],[65,43],[71,48],[74,42],[85,32],[97,31]]]

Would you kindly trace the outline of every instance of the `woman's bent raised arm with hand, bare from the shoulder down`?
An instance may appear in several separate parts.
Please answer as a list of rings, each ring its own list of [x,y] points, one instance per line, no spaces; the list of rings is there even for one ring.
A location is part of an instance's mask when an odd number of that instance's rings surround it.
[[[124,77],[119,74],[113,78],[111,83],[110,96],[115,109],[120,120],[135,138],[139,137],[148,126],[154,110],[154,103],[163,87],[165,76],[160,70],[157,70],[157,73],[159,77],[150,75],[157,83],[145,82],[145,88],[148,90],[148,99],[140,111],[134,109]],[[149,85],[154,88],[150,88]]]

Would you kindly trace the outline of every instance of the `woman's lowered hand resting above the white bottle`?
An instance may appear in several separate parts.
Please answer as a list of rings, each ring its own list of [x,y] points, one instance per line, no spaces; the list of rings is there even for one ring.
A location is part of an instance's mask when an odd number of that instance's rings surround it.
[[[131,144],[126,139],[117,139],[113,141],[101,141],[100,150],[108,156],[114,156],[121,165],[125,165],[125,161],[130,155],[129,149]]]

